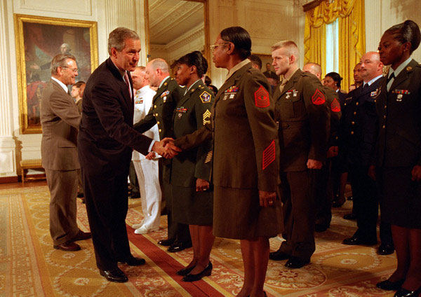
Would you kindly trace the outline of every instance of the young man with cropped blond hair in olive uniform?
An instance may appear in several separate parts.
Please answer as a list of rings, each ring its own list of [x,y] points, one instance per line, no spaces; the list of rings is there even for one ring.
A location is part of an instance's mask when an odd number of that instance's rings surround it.
[[[285,232],[272,260],[288,259],[286,266],[309,263],[314,244],[314,170],[326,160],[329,110],[323,85],[298,67],[299,51],[293,41],[272,46],[273,65],[283,75],[274,92],[275,120],[280,148],[281,198]]]

